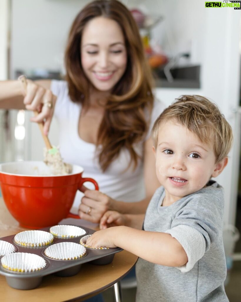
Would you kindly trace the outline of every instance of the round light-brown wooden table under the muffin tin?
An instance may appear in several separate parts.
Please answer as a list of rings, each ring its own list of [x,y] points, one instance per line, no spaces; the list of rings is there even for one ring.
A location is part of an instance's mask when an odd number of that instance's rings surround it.
[[[62,220],[61,223],[64,223]],[[76,224],[76,220],[68,219],[68,223]],[[98,225],[81,220],[78,223],[90,229],[98,230]],[[0,237],[13,235],[24,231],[18,222],[8,212],[5,203],[0,198]],[[0,275],[0,300],[4,302],[61,302],[83,301],[114,285],[118,287],[121,280],[135,265],[137,256],[127,251],[116,253],[113,262],[107,265],[91,265],[84,263],[81,271],[72,277],[57,277],[48,275],[43,277],[39,287],[32,290],[17,290],[11,288]],[[117,293],[115,293],[117,294]],[[117,299],[116,299],[117,300]],[[120,301],[120,299],[119,299]]]

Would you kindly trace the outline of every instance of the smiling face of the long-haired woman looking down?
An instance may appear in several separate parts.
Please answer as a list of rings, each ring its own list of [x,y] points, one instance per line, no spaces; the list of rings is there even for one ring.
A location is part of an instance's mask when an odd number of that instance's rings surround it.
[[[110,92],[126,70],[127,52],[120,25],[96,17],[84,27],[81,64],[86,77],[99,91]]]

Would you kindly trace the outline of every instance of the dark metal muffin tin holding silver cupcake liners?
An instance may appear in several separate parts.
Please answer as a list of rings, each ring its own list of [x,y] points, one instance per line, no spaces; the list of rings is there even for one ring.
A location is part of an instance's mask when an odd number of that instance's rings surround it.
[[[65,223],[65,225],[68,225],[68,223]],[[55,274],[61,277],[73,276],[76,275],[81,270],[81,265],[83,263],[89,262],[95,265],[109,264],[112,262],[114,258],[114,254],[122,251],[121,248],[93,249],[93,248],[82,246],[80,244],[80,239],[86,235],[89,236],[93,234],[95,231],[84,226],[74,225],[72,223],[71,225],[80,227],[85,232],[81,232],[83,233],[82,235],[80,236],[75,235],[74,237],[71,236],[59,237],[55,235],[53,241],[45,246],[23,246],[17,244],[14,240],[14,237],[17,234],[0,238],[0,242],[1,241],[6,242],[6,244],[2,244],[2,246],[4,247],[5,245],[14,246],[14,248],[11,247],[10,250],[12,253],[8,254],[8,256],[13,255],[14,253],[19,253],[19,254],[29,253],[42,257],[42,259],[44,259],[44,261],[46,262],[46,265],[39,270],[24,271],[24,272],[17,271],[16,268],[10,270],[9,268],[6,268],[6,265],[5,267],[2,265],[1,259],[4,257],[4,255],[1,255],[0,274],[6,277],[6,281],[8,285],[16,289],[23,289],[23,290],[33,289],[41,284],[42,278],[46,275]],[[45,227],[42,228],[41,230],[50,233],[50,227]],[[66,244],[67,242],[69,242],[69,244]],[[47,249],[52,250],[52,246],[54,246],[55,244],[58,244],[58,246],[61,246],[61,248],[62,246],[70,245],[71,249],[73,246],[75,246],[77,247],[77,250],[79,248],[78,245],[80,245],[81,247],[83,247],[83,250],[79,257],[72,257],[71,255],[68,260],[52,259],[47,256],[48,253],[46,253],[46,250]],[[8,249],[4,249],[4,250],[8,251]],[[34,255],[32,257],[34,257]]]

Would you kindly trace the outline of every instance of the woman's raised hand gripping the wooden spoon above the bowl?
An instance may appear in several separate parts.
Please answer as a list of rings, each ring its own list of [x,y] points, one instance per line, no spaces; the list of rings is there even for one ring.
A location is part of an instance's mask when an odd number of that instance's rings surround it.
[[[42,81],[44,83],[44,81]],[[50,81],[45,81],[46,87],[50,87]],[[43,87],[36,82],[27,80],[27,88],[24,91],[23,103],[27,110],[37,111],[38,115],[31,117],[31,121],[43,123],[44,134],[47,135],[54,113],[57,97],[49,88]]]

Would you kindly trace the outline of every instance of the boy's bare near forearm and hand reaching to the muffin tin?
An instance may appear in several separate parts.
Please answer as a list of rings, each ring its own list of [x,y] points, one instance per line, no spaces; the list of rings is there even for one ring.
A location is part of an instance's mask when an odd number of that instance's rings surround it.
[[[95,232],[86,242],[90,246],[120,247],[142,259],[166,266],[182,266],[186,252],[170,234],[114,226]]]

